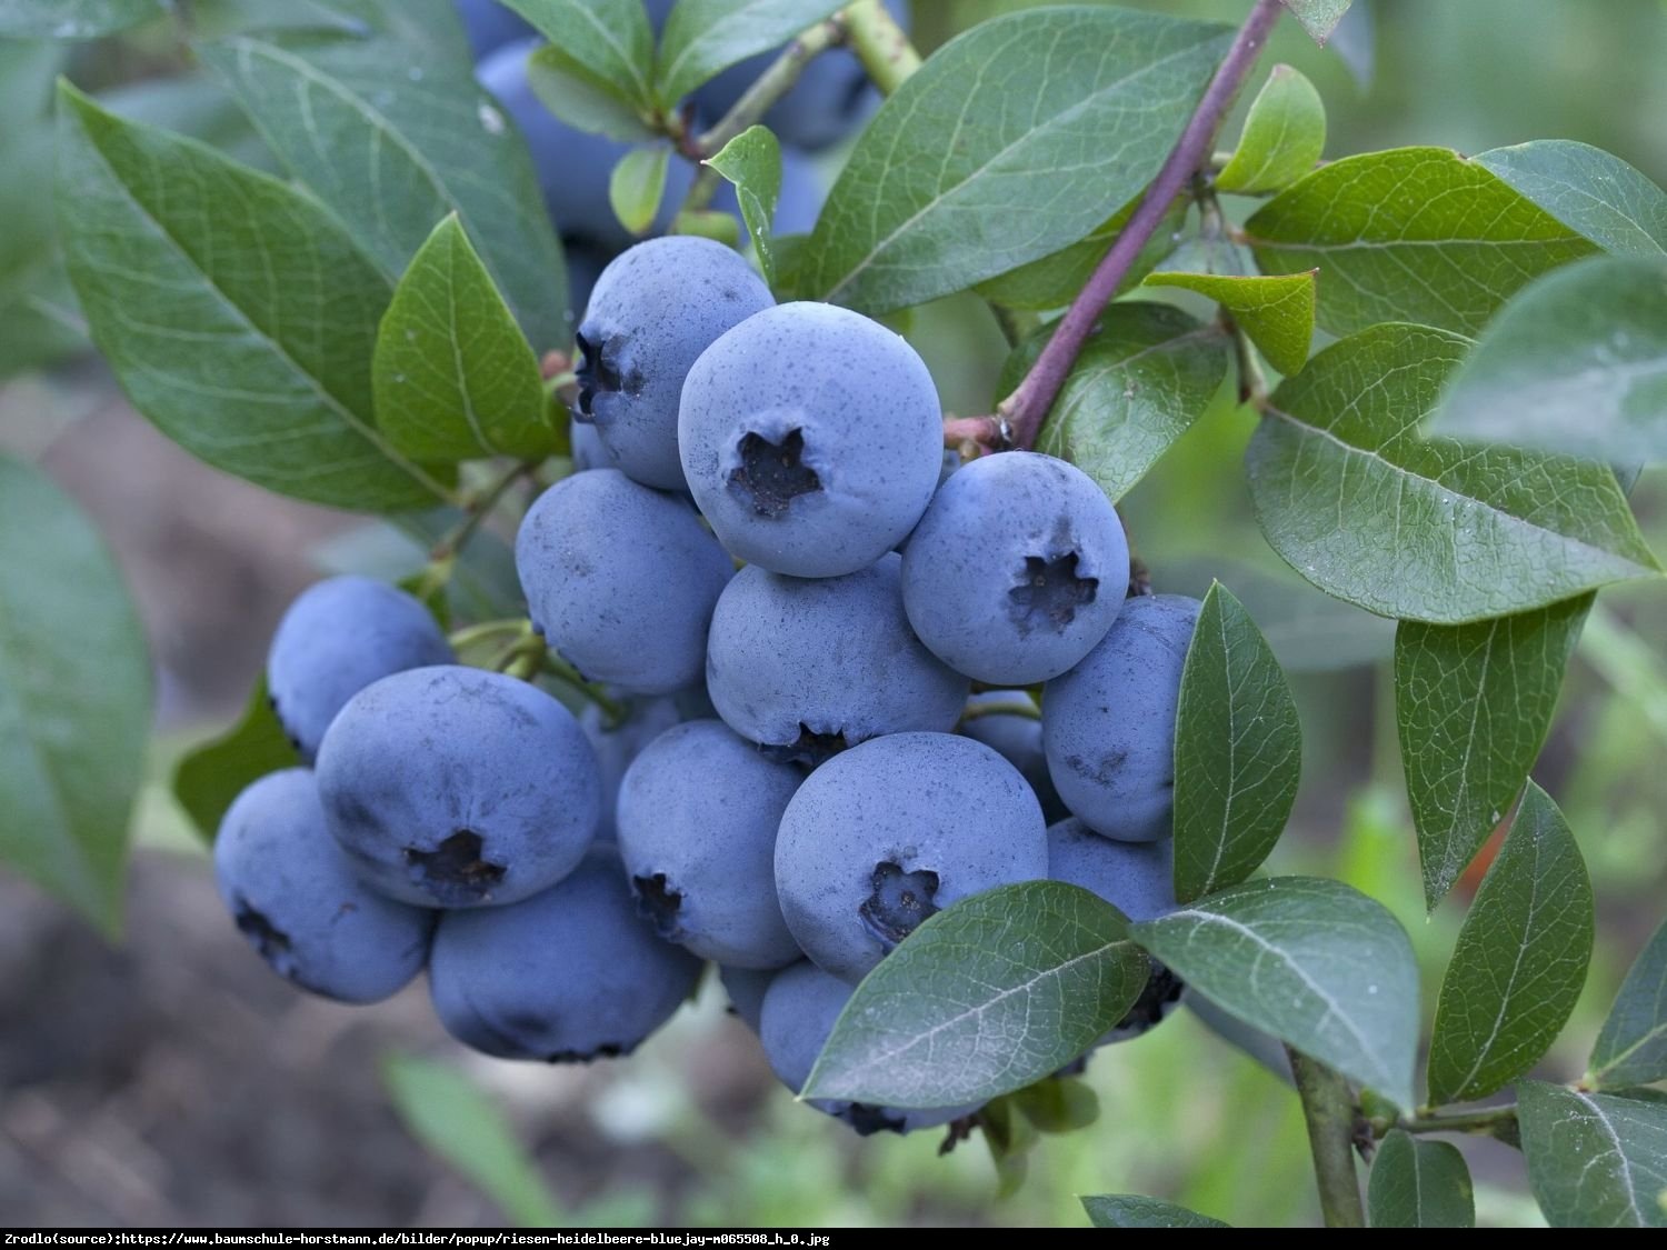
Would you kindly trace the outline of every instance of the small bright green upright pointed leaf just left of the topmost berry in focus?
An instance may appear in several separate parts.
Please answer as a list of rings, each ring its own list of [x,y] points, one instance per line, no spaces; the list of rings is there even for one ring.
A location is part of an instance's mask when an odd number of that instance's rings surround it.
[[[457,217],[412,258],[377,333],[377,423],[412,460],[557,450],[538,362]]]

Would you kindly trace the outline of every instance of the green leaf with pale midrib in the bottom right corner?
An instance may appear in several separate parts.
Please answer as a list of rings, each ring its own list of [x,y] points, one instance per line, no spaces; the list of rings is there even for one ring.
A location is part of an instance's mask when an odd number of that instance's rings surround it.
[[[1529,1187],[1554,1228],[1667,1225],[1667,1103],[1517,1083]]]

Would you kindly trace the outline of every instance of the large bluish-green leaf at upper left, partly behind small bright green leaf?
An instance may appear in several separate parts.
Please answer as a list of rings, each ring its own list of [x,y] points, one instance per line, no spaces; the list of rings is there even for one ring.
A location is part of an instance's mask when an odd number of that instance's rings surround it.
[[[200,48],[388,280],[457,213],[532,343],[565,347],[562,248],[525,143],[467,63],[428,58],[390,75],[393,52],[380,40],[292,50],[247,37]]]

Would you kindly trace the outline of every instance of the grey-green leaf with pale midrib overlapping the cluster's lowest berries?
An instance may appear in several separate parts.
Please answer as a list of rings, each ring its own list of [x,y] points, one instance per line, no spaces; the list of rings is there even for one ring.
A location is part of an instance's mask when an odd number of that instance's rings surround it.
[[[1122,1020],[1149,975],[1127,920],[1087,890],[985,890],[864,978],[802,1097],[950,1107],[1024,1088]]]

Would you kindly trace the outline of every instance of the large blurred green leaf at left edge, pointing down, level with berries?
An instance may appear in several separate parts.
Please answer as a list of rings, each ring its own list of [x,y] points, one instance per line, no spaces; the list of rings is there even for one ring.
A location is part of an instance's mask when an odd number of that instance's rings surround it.
[[[122,573],[58,487],[0,457],[0,863],[122,927],[150,655]]]

